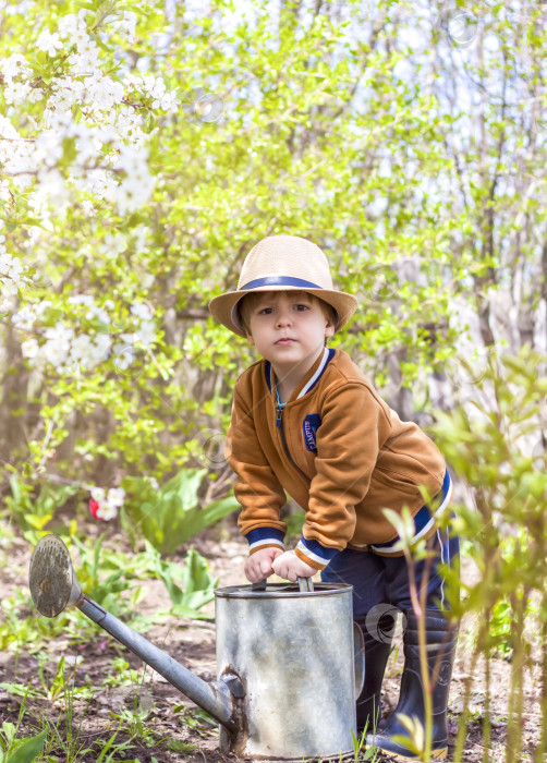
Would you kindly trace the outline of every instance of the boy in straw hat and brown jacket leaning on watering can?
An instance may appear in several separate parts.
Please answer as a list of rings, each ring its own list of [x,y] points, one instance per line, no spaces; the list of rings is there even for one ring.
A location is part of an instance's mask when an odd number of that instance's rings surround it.
[[[295,581],[321,570],[324,581],[353,585],[354,619],[365,639],[365,685],[357,729],[376,730],[380,687],[393,628],[381,625],[398,609],[406,619],[404,670],[396,712],[367,742],[400,759],[415,756],[393,740],[406,731],[398,713],[425,725],[417,619],[404,557],[382,513],[409,506],[415,534],[429,537],[436,560],[427,577],[427,661],[438,670],[433,690],[433,756],[446,758],[447,702],[455,635],[439,609],[443,580],[437,569],[458,554],[445,537],[418,485],[451,499],[442,456],[411,422],[402,422],[341,350],[327,339],[351,318],[357,301],[335,290],[327,258],[306,239],[272,235],[248,253],[238,290],[209,304],[214,317],[246,337],[263,356],[238,379],[227,453],[238,475],[240,529],[250,543],[245,574],[257,582],[276,573]],[[280,511],[288,492],[305,509],[303,537],[285,552]],[[417,584],[424,562],[416,567]]]

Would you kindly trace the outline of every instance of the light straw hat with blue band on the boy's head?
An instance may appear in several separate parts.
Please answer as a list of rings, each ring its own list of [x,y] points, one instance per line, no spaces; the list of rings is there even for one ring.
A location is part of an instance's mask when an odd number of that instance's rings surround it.
[[[238,302],[251,291],[306,291],[328,302],[338,314],[337,330],[345,326],[357,307],[353,294],[332,287],[324,252],[300,235],[268,235],[245,257],[238,291],[209,302],[212,316],[240,337],[245,337]]]

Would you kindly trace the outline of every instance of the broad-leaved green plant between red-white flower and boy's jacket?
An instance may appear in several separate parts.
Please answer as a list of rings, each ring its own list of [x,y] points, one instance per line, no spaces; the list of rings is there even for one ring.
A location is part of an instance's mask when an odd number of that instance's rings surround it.
[[[121,517],[133,543],[144,535],[159,552],[172,554],[234,511],[239,504],[233,497],[200,506],[198,492],[205,474],[205,469],[183,469],[158,489],[145,477],[124,477],[122,487],[127,499]]]

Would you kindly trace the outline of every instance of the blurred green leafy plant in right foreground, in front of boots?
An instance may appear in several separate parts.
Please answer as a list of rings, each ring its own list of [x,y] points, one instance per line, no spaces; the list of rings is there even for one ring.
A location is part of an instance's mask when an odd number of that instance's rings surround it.
[[[458,617],[477,616],[470,676],[478,657],[486,659],[486,691],[491,691],[488,661],[493,651],[511,653],[513,669],[508,697],[508,747],[513,760],[523,747],[524,676],[533,645],[547,650],[547,359],[524,347],[518,355],[491,355],[476,383],[475,399],[453,414],[438,412],[431,427],[436,441],[460,479],[471,487],[474,506],[457,504],[449,521],[465,542],[476,567],[473,582],[462,583],[447,570],[449,597]],[[471,372],[471,366],[467,367]],[[526,627],[532,619],[534,625]],[[464,706],[471,695],[467,680]],[[489,725],[489,703],[485,727]],[[547,707],[542,708],[547,728]],[[459,728],[454,760],[461,760],[466,713]],[[485,744],[487,741],[485,741]],[[544,734],[537,760],[545,752]]]

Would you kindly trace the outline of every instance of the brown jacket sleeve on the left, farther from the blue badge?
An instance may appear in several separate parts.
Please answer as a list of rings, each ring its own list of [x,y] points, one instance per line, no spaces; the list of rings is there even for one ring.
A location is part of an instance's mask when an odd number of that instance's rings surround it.
[[[244,401],[238,385],[226,456],[236,474],[234,493],[242,506],[238,524],[248,541],[250,553],[270,546],[284,549],[287,524],[280,520],[287,502],[284,491],[260,447],[251,401]]]

